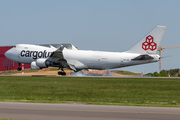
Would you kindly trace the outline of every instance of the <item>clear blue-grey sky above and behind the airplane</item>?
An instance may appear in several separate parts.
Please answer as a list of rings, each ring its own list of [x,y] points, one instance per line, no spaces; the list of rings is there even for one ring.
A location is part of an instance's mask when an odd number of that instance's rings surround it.
[[[160,46],[180,46],[179,6],[179,0],[0,0],[0,46],[71,43],[123,52],[157,25],[167,26]],[[162,69],[180,68],[179,52],[165,49]],[[159,63],[120,70],[155,72]]]

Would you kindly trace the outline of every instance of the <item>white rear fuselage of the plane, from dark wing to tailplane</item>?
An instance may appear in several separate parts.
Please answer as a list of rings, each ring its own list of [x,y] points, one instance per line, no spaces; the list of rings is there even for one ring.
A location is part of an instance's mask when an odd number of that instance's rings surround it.
[[[133,61],[139,54],[98,51],[63,51],[64,59],[76,69],[113,69],[154,62],[153,60]]]

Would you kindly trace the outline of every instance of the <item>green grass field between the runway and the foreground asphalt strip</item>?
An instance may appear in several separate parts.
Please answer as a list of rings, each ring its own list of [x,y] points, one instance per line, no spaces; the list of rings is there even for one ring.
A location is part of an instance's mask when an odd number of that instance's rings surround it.
[[[1,76],[0,101],[180,107],[180,79]]]

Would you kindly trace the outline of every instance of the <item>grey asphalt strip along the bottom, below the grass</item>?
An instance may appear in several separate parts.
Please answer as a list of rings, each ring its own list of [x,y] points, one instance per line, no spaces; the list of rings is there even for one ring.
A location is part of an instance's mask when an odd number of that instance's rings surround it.
[[[0,118],[19,120],[180,120],[180,108],[0,102]]]

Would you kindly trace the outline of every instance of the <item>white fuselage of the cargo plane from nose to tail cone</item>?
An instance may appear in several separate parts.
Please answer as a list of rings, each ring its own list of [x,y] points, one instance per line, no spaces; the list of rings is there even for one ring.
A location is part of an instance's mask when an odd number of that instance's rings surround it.
[[[37,59],[48,59],[52,52],[56,51],[54,47],[44,47],[29,44],[18,44],[5,53],[5,56],[15,62],[31,64]],[[70,50],[62,51],[64,59],[68,64],[74,65],[76,69],[113,69],[132,65],[139,65],[159,61],[159,55],[150,55],[154,59],[134,61],[140,54],[128,52],[101,52],[88,50]],[[54,60],[54,59],[53,59]]]

